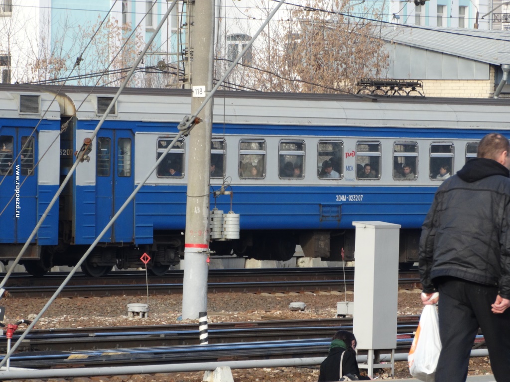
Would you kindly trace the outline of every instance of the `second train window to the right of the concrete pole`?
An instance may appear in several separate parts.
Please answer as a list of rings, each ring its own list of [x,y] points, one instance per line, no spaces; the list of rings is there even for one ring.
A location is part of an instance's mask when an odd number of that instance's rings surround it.
[[[266,142],[241,141],[239,143],[239,177],[264,178],[266,176]]]

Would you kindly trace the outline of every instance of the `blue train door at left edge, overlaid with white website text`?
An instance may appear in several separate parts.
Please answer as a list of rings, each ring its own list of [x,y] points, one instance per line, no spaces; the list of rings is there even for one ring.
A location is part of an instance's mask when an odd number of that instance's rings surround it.
[[[30,134],[32,128],[0,129],[0,242],[24,243],[37,223],[36,140]]]

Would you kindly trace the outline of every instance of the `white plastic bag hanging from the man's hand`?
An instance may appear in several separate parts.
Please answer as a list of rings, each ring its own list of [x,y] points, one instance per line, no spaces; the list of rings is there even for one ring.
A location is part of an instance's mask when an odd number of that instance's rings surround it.
[[[438,312],[435,305],[425,305],[407,356],[411,375],[425,382],[434,382],[440,352]]]

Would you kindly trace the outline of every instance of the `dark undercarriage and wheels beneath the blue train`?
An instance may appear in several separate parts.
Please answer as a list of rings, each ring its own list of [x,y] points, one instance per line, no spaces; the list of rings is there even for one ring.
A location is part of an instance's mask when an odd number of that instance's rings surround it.
[[[420,230],[401,230],[399,266],[409,268],[418,261],[418,242]],[[300,245],[305,257],[318,257],[327,261],[354,260],[354,230],[316,230],[316,231],[246,231],[241,232],[238,240],[211,241],[211,254],[253,258],[257,260],[286,261]],[[0,260],[7,263],[16,258],[22,245],[0,245]],[[33,276],[42,277],[52,267],[74,266],[88,250],[87,245],[60,244],[56,246],[31,246],[20,263]],[[145,260],[142,256],[147,254]],[[172,266],[177,265],[184,256],[184,236],[157,232],[154,243],[126,245],[121,243],[100,243],[81,264],[82,271],[90,277],[107,275],[113,267],[118,269],[145,268],[150,274],[163,276]],[[150,258],[150,259],[148,259]]]

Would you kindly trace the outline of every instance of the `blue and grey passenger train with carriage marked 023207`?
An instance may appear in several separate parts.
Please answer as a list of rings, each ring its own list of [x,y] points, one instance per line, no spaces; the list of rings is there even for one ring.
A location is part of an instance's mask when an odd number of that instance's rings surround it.
[[[0,86],[0,261],[14,259],[54,197],[116,89]],[[510,101],[219,92],[214,98],[211,208],[240,214],[240,238],[216,254],[351,260],[355,221],[401,225],[399,262],[417,259],[438,185],[476,156],[489,131],[507,133]],[[190,114],[191,92],[131,89],[118,98],[49,211],[22,263],[33,275],[74,265],[141,182]],[[195,128],[200,128],[197,125]],[[24,149],[23,149],[24,147]],[[182,138],[88,256],[162,275],[184,251],[187,179]],[[231,196],[214,197],[228,188]]]

